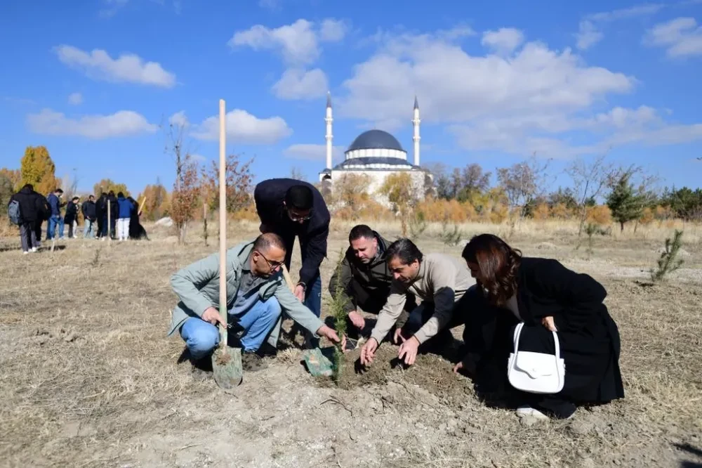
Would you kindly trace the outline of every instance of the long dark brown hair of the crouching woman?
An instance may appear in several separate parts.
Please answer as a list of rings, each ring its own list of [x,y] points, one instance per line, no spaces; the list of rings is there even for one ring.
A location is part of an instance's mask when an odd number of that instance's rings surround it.
[[[517,291],[517,271],[522,252],[492,234],[473,237],[461,254],[465,261],[477,264],[482,278],[478,284],[486,290],[491,304],[505,306]]]

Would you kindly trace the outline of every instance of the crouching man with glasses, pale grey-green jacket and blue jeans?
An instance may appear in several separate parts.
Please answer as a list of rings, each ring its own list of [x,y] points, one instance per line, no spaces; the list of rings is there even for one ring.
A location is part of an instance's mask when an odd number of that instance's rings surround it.
[[[280,272],[285,245],[274,233],[261,234],[253,242],[227,251],[228,323],[219,307],[219,254],[196,261],[171,277],[179,302],[173,310],[171,336],[176,330],[185,341],[193,371],[211,370],[210,355],[219,344],[217,325],[229,328],[229,343],[241,347],[247,370],[262,368],[260,348],[266,337],[277,346],[281,311],[303,328],[332,342],[339,342],[334,330],[305,307],[289,290]]]

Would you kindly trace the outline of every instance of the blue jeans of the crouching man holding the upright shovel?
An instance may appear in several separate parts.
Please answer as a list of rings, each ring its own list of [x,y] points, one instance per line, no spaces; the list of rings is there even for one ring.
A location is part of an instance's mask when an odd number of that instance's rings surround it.
[[[280,304],[278,299],[271,297],[267,301],[257,301],[256,304],[240,316],[229,315],[230,336],[227,337],[232,344],[231,330],[238,330],[241,348],[244,351],[258,351],[267,337],[268,332],[278,321]],[[185,341],[190,356],[194,359],[206,357],[220,342],[219,328],[199,317],[190,317],[180,327],[180,337]]]

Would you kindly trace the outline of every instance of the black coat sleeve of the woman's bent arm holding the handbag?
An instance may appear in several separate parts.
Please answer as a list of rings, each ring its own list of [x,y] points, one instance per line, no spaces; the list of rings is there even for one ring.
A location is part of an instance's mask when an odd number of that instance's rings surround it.
[[[542,259],[530,276],[529,282],[537,295],[557,302],[560,313],[555,314],[554,321],[558,330],[582,330],[600,313],[602,301],[607,297],[607,290],[600,282],[585,273],[569,270],[557,260]]]

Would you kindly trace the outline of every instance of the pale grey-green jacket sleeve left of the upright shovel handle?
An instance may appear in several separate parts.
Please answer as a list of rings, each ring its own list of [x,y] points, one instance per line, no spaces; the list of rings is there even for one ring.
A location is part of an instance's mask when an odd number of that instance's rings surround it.
[[[201,317],[212,301],[200,290],[219,275],[219,254],[212,254],[194,264],[181,268],[171,276],[171,287],[178,299],[197,316]]]

